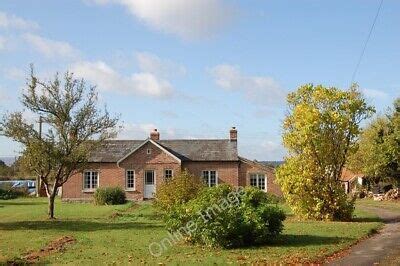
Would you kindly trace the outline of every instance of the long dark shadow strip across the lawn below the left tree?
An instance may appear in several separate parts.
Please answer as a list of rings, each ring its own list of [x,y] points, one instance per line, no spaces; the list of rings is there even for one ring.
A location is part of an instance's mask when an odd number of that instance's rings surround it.
[[[19,221],[0,223],[0,230],[61,230],[61,231],[101,231],[101,230],[123,230],[123,229],[156,229],[163,227],[160,224],[145,222],[120,222],[105,223],[81,220],[64,221]]]

